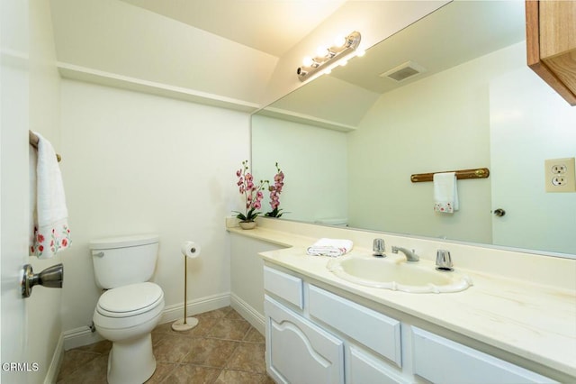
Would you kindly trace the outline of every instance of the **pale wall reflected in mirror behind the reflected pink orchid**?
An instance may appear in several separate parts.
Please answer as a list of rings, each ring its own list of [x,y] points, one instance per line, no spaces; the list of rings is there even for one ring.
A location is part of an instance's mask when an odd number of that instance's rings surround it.
[[[308,222],[346,218],[346,133],[266,116],[252,119],[252,147],[257,148],[252,153],[254,175],[273,181],[278,162],[284,172],[283,218]],[[265,193],[262,212],[271,210]]]

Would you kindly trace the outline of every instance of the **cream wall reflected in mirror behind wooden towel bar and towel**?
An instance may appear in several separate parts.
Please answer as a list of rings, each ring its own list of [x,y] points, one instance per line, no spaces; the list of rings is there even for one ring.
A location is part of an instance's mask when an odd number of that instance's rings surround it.
[[[381,96],[349,133],[350,224],[491,243],[491,178],[459,180],[460,210],[441,215],[410,175],[491,167],[490,81],[523,60],[515,44]]]

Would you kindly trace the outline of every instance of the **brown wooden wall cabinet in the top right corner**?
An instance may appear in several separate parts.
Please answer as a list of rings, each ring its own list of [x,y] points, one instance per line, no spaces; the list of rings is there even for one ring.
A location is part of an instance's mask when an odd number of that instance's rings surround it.
[[[526,2],[527,64],[576,105],[576,0]]]

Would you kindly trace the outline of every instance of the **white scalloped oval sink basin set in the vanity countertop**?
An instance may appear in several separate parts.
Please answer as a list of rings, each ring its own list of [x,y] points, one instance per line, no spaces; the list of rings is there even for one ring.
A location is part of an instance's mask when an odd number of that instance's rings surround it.
[[[435,270],[429,261],[347,256],[329,261],[327,268],[352,283],[411,293],[459,292],[472,286],[468,276]]]

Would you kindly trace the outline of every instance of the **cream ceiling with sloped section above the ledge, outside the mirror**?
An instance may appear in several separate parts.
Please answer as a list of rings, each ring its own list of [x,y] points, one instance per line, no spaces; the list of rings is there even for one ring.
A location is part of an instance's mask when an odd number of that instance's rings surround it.
[[[64,77],[253,111],[278,56],[343,1],[50,0],[50,10]]]

